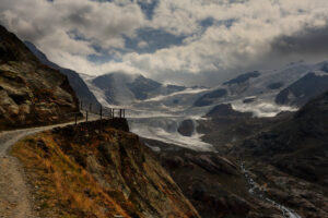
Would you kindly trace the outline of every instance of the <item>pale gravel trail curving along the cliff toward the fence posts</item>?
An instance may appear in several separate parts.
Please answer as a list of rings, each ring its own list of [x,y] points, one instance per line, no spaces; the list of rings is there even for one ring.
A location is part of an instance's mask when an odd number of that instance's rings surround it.
[[[92,116],[90,120],[97,118]],[[0,133],[0,218],[36,217],[33,215],[34,209],[31,204],[28,186],[25,183],[23,167],[16,158],[8,154],[10,147],[27,135],[68,124],[72,124],[72,122]]]

